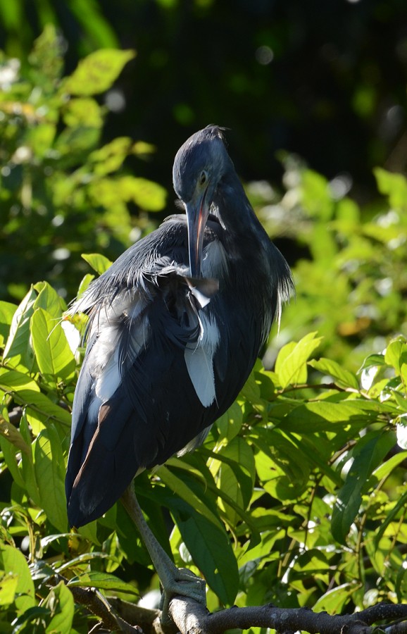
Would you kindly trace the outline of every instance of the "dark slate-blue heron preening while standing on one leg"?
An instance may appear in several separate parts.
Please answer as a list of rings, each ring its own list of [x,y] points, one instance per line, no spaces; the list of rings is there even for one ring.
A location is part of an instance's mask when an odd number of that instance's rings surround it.
[[[65,490],[79,528],[122,499],[163,587],[205,603],[149,529],[132,480],[201,445],[234,402],[293,291],[287,261],[208,125],[177,151],[173,186],[185,213],[135,242],[70,313],[89,319],[77,381]]]

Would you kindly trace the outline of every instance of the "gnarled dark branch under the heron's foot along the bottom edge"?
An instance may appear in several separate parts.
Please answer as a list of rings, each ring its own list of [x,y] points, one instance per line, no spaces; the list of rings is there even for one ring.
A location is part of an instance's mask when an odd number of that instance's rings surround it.
[[[75,601],[99,616],[103,626],[125,634],[163,634],[160,611],[144,609],[121,599],[109,597],[102,601],[94,590],[70,588]],[[182,634],[223,634],[225,630],[251,627],[272,628],[281,634],[301,630],[308,634],[373,634],[374,623],[387,621],[387,634],[407,634],[407,604],[380,603],[356,614],[330,615],[308,608],[279,608],[272,604],[259,607],[231,607],[209,612],[206,607],[188,597],[175,597],[170,602],[169,614]],[[120,615],[120,616],[118,616]],[[134,625],[130,625],[134,623]],[[137,625],[135,625],[137,623]]]

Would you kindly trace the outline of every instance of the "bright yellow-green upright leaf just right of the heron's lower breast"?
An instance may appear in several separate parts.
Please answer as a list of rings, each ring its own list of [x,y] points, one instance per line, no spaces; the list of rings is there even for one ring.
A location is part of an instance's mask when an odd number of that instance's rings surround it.
[[[321,341],[322,337],[316,337],[316,332],[309,332],[298,343],[291,342],[282,347],[275,361],[275,372],[282,387],[306,383],[306,362]]]

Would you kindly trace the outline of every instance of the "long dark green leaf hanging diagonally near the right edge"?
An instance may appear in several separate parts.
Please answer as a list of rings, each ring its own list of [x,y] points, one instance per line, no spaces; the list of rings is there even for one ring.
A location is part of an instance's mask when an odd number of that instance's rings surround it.
[[[339,543],[346,544],[349,528],[361,506],[362,493],[369,486],[370,475],[393,446],[393,434],[379,433],[362,438],[353,448],[353,462],[332,512],[332,535]]]

